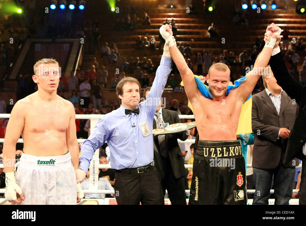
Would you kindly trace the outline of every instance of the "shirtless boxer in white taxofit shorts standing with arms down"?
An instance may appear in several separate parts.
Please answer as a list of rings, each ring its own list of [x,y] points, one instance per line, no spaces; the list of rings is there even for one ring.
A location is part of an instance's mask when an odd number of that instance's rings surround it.
[[[74,107],[56,94],[60,77],[56,60],[37,61],[34,73],[38,90],[17,101],[6,128],[5,197],[23,205],[76,204],[84,193],[76,184],[79,146]],[[14,175],[14,164],[6,163],[15,159],[20,134],[24,153]]]

